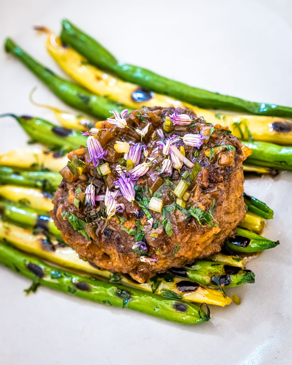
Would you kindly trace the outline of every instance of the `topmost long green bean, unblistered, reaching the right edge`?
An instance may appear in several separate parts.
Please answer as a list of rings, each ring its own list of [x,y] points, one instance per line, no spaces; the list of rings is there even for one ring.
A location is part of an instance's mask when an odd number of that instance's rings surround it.
[[[192,87],[170,80],[138,66],[119,63],[114,56],[89,35],[68,20],[62,21],[61,40],[69,44],[97,67],[107,70],[122,80],[133,82],[145,89],[170,95],[178,100],[202,108],[226,109],[257,115],[292,117],[292,108],[281,105],[254,103],[219,93]]]

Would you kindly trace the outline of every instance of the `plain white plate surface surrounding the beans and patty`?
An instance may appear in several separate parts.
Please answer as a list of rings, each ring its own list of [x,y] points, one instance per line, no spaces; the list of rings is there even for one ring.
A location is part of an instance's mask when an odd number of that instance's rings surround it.
[[[0,7],[1,42],[11,36],[59,74],[45,37],[32,26],[59,32],[66,17],[120,60],[212,91],[292,106],[289,0],[0,0]],[[0,80],[0,113],[54,122],[51,112],[29,103],[35,85],[35,99],[69,110],[2,51]],[[0,122],[1,153],[25,145],[14,120]],[[246,181],[245,191],[274,209],[264,235],[281,244],[247,265],[256,283],[236,289],[242,304],[211,306],[211,320],[202,325],[173,324],[47,288],[25,297],[30,281],[0,267],[0,364],[290,364],[291,185],[287,172]]]

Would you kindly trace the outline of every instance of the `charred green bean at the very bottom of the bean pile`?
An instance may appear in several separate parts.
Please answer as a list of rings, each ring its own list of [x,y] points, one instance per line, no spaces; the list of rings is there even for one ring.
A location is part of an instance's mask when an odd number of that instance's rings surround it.
[[[128,308],[172,322],[196,324],[210,319],[195,304],[166,299],[125,285],[108,283],[65,271],[0,242],[0,263],[34,281],[34,287],[44,285],[80,298],[108,306]]]

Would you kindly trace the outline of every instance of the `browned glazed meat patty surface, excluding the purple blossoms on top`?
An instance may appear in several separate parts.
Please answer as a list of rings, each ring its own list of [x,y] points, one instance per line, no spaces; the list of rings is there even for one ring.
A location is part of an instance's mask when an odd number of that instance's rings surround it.
[[[174,130],[164,133],[163,138],[153,133],[162,128],[165,117],[173,113],[172,107],[141,108],[125,117],[130,128],[119,128],[105,122],[105,130],[100,131],[96,138],[103,149],[107,150],[106,161],[101,163],[108,162],[111,173],[100,176],[92,162],[87,161],[87,148],[80,147],[69,154],[69,159],[78,158],[87,167],[81,176],[61,170],[65,178],[53,199],[54,209],[51,216],[57,228],[61,230],[64,241],[77,251],[80,258],[101,269],[128,273],[139,283],[169,268],[192,264],[196,258],[218,253],[224,240],[234,235],[238,223],[245,217],[242,162],[246,157],[246,151],[242,143],[230,134],[226,127],[208,124],[202,118],[197,118],[191,110],[180,108],[179,114],[188,114],[192,118],[189,126],[174,126]],[[95,187],[95,195],[105,194],[107,187],[110,191],[117,189],[115,181],[119,177],[119,163],[124,161],[121,160],[124,154],[116,152],[114,144],[116,141],[141,142],[141,136],[135,132],[135,128],[142,130],[148,123],[151,124],[142,139],[142,144],[147,146],[147,161],[155,161],[150,162],[146,174],[133,181],[136,199],[134,205],[123,195],[118,195],[117,202],[124,204],[125,208],[123,212],[116,212],[105,223],[107,215],[104,201],[96,201],[96,206],[84,204],[85,189],[91,183]],[[183,139],[175,143],[178,149],[184,146],[185,157],[194,164],[198,162],[201,167],[198,176],[189,185],[190,196],[183,209],[175,204],[176,197],[173,191],[182,179],[181,175],[185,171],[191,172],[192,168],[183,165],[180,171],[173,168],[169,176],[160,174],[162,162],[168,156],[164,156],[162,150],[155,152],[154,149],[158,141],[167,141],[167,138],[173,135],[183,137],[190,133],[200,133],[205,138],[199,149],[184,144]],[[145,158],[142,150],[139,163],[143,163]],[[162,177],[163,183],[153,192],[150,190],[153,187],[153,179],[159,176]],[[151,193],[163,201],[162,213],[148,209]],[[74,197],[81,200],[80,209],[73,204]],[[200,217],[190,215],[188,212],[191,207],[207,213],[212,217],[211,221],[207,223]],[[73,228],[65,212],[71,212],[86,223],[85,230],[90,239]],[[152,227],[151,224],[146,224],[149,219],[146,216],[148,212],[153,217]],[[169,227],[172,228],[172,233]],[[147,247],[142,252],[140,248],[132,248],[135,242],[141,240]],[[157,261],[143,262],[141,256]]]

